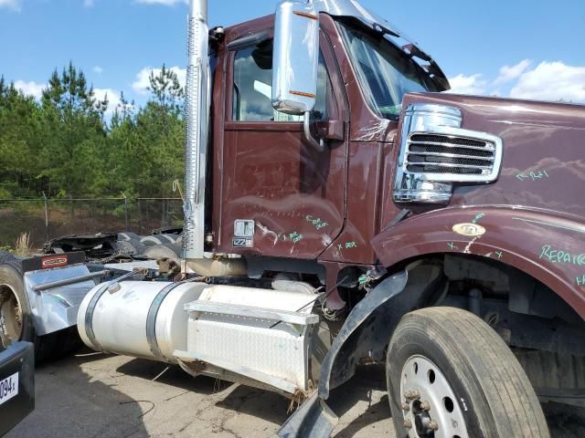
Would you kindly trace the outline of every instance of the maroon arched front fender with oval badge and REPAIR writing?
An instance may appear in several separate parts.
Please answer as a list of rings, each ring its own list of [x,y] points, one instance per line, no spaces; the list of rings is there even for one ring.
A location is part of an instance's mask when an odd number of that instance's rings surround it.
[[[372,246],[383,266],[433,254],[478,255],[514,266],[585,318],[585,226],[574,216],[455,206],[411,216],[374,237]]]

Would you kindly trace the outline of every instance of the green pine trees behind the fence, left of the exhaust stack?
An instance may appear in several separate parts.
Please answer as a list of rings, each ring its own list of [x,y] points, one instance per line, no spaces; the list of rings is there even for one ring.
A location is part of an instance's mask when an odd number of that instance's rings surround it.
[[[184,174],[184,89],[163,66],[147,103],[107,114],[72,64],[35,99],[0,78],[0,198],[169,196]]]

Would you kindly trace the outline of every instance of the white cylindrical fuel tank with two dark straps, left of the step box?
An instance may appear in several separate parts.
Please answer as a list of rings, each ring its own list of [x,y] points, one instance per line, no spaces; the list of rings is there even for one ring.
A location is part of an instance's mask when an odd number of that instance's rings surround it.
[[[98,351],[176,363],[186,349],[186,303],[197,300],[202,283],[113,281],[90,290],[78,314],[83,342]]]

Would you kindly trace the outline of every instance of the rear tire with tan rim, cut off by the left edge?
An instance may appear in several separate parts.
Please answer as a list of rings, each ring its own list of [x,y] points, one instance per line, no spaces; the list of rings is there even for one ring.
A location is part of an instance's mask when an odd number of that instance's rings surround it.
[[[16,258],[0,265],[0,349],[19,340],[32,342],[35,361],[40,363],[58,359],[80,347],[75,327],[37,336],[21,272]]]

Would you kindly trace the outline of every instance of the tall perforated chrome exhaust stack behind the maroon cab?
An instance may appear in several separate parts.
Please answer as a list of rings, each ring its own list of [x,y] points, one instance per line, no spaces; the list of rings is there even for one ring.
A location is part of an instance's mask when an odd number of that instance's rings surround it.
[[[209,120],[207,0],[191,0],[187,28],[183,257],[203,258]]]

